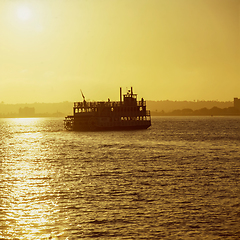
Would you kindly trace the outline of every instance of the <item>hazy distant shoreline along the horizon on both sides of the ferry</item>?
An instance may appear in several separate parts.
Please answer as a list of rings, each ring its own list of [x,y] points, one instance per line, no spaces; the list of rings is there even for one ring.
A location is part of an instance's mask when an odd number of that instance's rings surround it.
[[[0,118],[65,117],[72,114],[72,102],[5,104],[0,103]],[[234,102],[147,101],[151,116],[240,116]]]

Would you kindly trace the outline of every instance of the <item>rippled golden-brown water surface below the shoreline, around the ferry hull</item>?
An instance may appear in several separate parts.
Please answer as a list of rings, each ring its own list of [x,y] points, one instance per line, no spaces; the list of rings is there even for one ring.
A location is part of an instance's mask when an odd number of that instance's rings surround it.
[[[0,239],[239,239],[239,143],[239,117],[0,119]]]

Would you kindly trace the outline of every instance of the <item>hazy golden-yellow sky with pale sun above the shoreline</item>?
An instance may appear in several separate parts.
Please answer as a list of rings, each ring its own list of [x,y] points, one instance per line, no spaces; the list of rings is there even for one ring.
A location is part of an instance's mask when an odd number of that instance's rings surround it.
[[[0,0],[0,102],[240,98],[240,0]]]

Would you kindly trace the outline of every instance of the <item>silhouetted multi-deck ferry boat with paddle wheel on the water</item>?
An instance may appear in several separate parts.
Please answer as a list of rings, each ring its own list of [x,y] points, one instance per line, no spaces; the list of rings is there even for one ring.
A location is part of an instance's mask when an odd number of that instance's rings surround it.
[[[146,101],[137,101],[133,88],[123,94],[120,88],[120,101],[74,102],[73,115],[65,117],[64,127],[73,131],[107,131],[147,129],[151,126],[150,111]]]

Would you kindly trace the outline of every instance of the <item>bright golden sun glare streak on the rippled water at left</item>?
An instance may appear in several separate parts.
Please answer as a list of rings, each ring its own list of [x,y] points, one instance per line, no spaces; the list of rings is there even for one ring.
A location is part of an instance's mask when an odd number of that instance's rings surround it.
[[[37,236],[50,237],[52,233],[58,235],[55,220],[59,209],[56,199],[49,197],[52,192],[49,180],[54,169],[42,147],[41,121],[8,121],[8,134],[12,135],[7,134],[1,161],[4,217],[1,232],[5,238],[36,239]],[[62,230],[60,232],[62,234]]]

